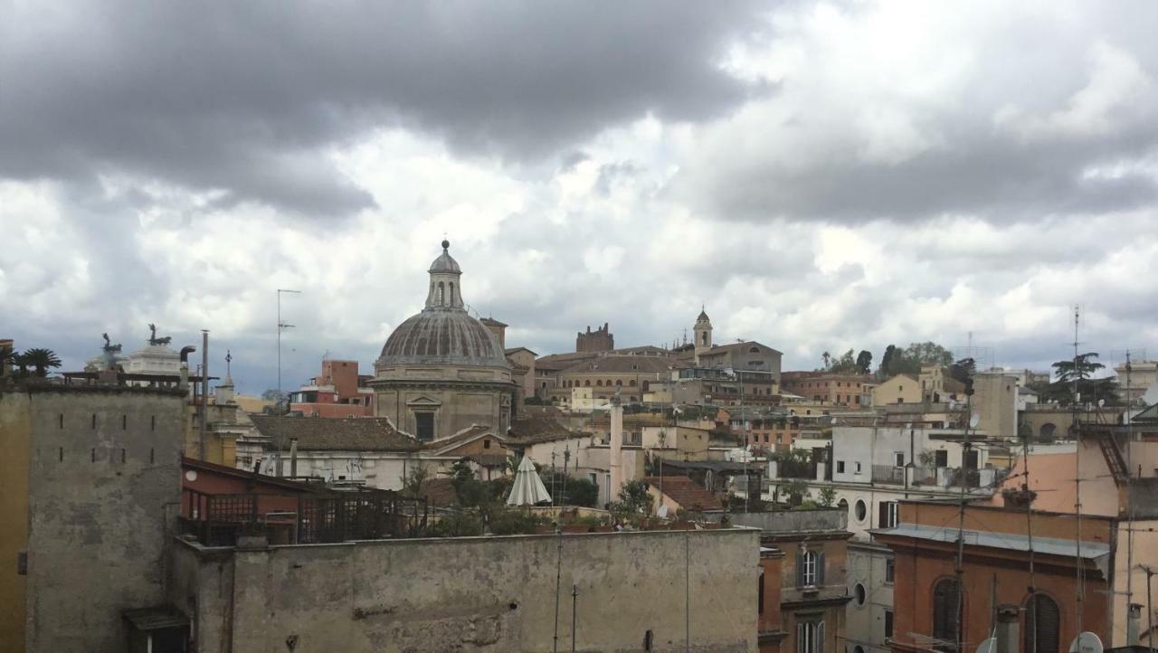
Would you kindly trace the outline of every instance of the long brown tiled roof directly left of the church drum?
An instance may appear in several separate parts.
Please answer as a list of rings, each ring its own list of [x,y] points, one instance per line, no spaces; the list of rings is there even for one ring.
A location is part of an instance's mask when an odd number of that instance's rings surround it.
[[[290,450],[290,439],[298,439],[301,452],[413,452],[420,448],[417,440],[398,432],[384,417],[327,418],[327,417],[251,417],[258,433],[280,440],[283,450]]]

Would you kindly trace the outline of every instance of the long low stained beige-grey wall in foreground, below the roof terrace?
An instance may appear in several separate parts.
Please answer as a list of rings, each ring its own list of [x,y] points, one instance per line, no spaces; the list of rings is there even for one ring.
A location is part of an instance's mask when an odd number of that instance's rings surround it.
[[[173,596],[201,653],[755,651],[758,531],[726,529],[220,550],[179,543]],[[195,560],[196,558],[196,560]],[[557,566],[559,560],[562,565]],[[686,585],[688,592],[686,593]],[[690,621],[686,622],[686,599]],[[232,603],[232,604],[230,604]],[[218,637],[227,633],[225,637]]]

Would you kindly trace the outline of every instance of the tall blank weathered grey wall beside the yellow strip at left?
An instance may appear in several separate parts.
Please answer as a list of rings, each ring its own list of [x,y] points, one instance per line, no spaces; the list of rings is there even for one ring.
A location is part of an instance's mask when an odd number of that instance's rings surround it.
[[[163,601],[183,409],[152,390],[30,394],[29,652],[124,651],[122,611]]]

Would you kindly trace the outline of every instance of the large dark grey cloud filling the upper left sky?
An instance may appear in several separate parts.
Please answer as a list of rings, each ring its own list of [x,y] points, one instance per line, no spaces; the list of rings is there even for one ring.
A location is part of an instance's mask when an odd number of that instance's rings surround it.
[[[310,215],[372,204],[324,159],[401,125],[547,155],[749,88],[717,61],[740,2],[76,2],[0,21],[0,176],[118,171]]]

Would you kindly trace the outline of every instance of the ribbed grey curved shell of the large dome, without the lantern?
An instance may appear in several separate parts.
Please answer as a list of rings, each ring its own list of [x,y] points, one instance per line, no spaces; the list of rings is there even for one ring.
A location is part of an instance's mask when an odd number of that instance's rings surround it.
[[[462,309],[426,309],[400,324],[378,359],[398,364],[507,366],[494,335]]]

